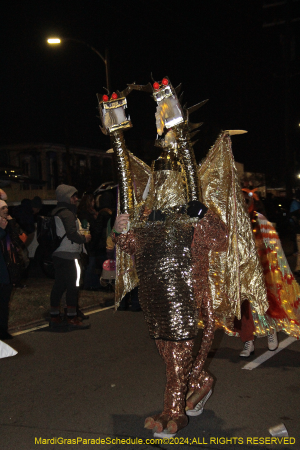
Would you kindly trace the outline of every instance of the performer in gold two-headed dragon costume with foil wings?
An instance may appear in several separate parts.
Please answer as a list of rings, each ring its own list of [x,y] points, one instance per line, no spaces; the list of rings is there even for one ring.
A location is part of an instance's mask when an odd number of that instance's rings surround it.
[[[151,168],[127,150],[123,138],[131,127],[125,96],[132,89],[150,91],[157,102],[157,133],[164,136],[156,140],[162,152]],[[211,163],[204,172],[200,167],[199,176],[191,137],[200,123],[190,123],[189,114],[206,100],[182,108],[178,90],[165,77],[153,85],[130,84],[110,98],[98,95],[101,130],[110,135],[119,180],[115,308],[138,284],[150,336],[166,364],[164,409],[147,417],[145,427],[164,437],[187,424],[186,414],[200,414],[211,394],[213,379],[203,364],[216,317],[239,316],[245,296],[259,312],[266,309],[250,222],[244,200],[236,197],[228,133],[214,147],[226,156],[217,166],[212,149]],[[192,362],[199,317],[204,329]]]

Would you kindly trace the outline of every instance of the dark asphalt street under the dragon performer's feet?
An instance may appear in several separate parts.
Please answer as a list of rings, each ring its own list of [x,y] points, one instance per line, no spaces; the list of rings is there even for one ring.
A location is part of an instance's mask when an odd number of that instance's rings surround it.
[[[300,448],[299,341],[244,370],[267,351],[266,338],[256,339],[254,355],[244,360],[238,356],[239,338],[216,331],[205,363],[215,384],[203,413],[190,417],[173,444],[146,443],[152,433],[143,428],[144,419],[162,410],[165,372],[143,314],[106,309],[89,321],[87,330],[41,328],[7,341],[18,354],[0,359],[1,450]],[[270,437],[268,428],[280,422],[294,444],[253,443],[255,437]],[[42,440],[53,438],[56,443]],[[78,443],[61,440],[77,438]],[[109,443],[109,438],[144,443]]]

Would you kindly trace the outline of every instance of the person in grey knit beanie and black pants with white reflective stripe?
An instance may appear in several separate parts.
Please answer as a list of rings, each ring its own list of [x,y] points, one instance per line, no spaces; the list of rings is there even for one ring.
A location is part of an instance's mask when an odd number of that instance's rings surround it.
[[[61,238],[60,244],[53,251],[52,260],[55,269],[55,281],[50,294],[51,331],[70,331],[86,329],[77,317],[80,278],[80,253],[82,244],[89,242],[90,234],[79,233],[79,223],[76,217],[77,189],[67,184],[60,184],[55,192],[57,205],[52,211],[55,220],[56,235]],[[60,299],[66,291],[66,322],[59,315]]]

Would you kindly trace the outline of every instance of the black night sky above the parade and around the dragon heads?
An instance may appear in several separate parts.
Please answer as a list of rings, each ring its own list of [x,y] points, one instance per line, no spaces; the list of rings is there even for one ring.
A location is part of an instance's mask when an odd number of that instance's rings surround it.
[[[263,28],[270,11],[262,0],[228,1],[11,1],[2,10],[0,144],[65,142],[109,148],[99,130],[96,93],[104,93],[105,69],[90,49],[73,42],[50,47],[58,34],[109,50],[112,90],[146,84],[167,75],[182,82],[188,106],[209,98],[193,114],[203,121],[195,153],[200,160],[220,129],[242,128],[234,136],[236,160],[246,170],[282,172],[284,165],[284,64],[280,33]],[[300,5],[300,2],[297,2]],[[274,11],[271,11],[273,13]],[[276,12],[276,11],[275,11]],[[284,12],[284,11],[283,11]],[[280,9],[276,14],[278,17]],[[300,13],[294,12],[297,16]],[[280,18],[280,17],[279,17]],[[295,59],[299,67],[299,25]],[[290,78],[292,149],[300,139],[300,75]],[[155,139],[155,102],[149,94],[127,97],[133,128],[130,141]]]

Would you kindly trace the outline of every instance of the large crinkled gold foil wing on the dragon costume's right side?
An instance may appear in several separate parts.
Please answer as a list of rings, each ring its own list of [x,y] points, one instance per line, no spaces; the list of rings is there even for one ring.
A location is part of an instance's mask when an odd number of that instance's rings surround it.
[[[203,203],[228,227],[225,252],[211,252],[209,285],[217,321],[230,334],[234,315],[248,299],[259,314],[267,309],[262,267],[241,193],[230,137],[222,133],[199,167]]]

